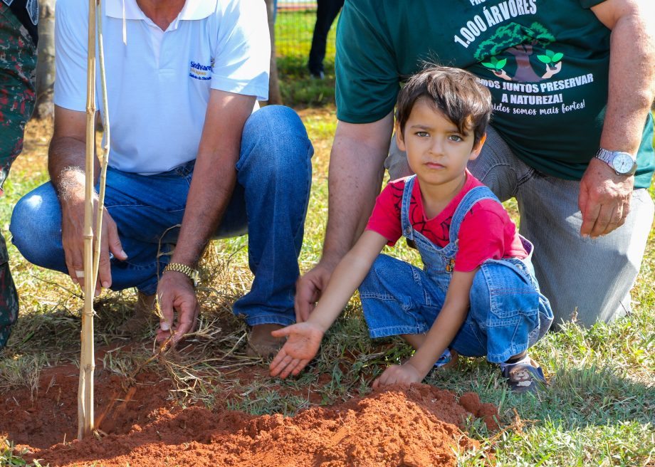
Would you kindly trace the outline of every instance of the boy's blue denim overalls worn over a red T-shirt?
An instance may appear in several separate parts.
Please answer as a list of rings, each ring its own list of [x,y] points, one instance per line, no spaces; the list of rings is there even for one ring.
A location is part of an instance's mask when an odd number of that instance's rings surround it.
[[[464,216],[482,199],[500,202],[488,187],[468,191],[453,215],[450,243],[439,248],[409,221],[415,179],[407,179],[404,187],[401,224],[403,235],[416,244],[424,269],[386,255],[376,259],[360,285],[371,337],[428,332],[446,300]],[[466,321],[449,346],[461,355],[505,362],[534,345],[550,327],[550,303],[539,293],[530,263],[533,246],[523,237],[521,241],[528,258],[488,259],[476,273]]]

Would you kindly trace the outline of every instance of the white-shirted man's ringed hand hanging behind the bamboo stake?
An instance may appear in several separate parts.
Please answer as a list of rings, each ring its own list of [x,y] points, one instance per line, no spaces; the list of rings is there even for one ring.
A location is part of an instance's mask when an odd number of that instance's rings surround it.
[[[68,275],[74,283],[84,288],[84,199],[68,199],[61,203],[61,241],[66,257]],[[98,216],[98,200],[93,204],[93,226],[95,229]],[[94,238],[97,241],[98,238]],[[103,229],[100,236],[100,262],[98,265],[98,283],[95,286],[95,295],[100,294],[100,288],[110,288],[112,284],[111,264],[109,253],[121,261],[127,259],[118,238],[116,223],[107,209],[103,209]]]

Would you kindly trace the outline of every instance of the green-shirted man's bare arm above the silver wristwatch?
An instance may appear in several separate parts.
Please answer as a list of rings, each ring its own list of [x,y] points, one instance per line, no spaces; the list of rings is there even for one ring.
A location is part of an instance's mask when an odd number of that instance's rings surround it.
[[[609,95],[600,146],[636,154],[655,95],[655,21],[645,11],[647,6],[625,3],[629,5],[614,11],[614,17],[609,14],[612,10],[594,10],[612,28]]]

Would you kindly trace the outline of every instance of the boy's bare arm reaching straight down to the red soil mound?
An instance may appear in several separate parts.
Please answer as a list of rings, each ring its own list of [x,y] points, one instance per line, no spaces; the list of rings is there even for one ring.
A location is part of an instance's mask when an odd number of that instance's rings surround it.
[[[446,302],[439,316],[430,327],[423,345],[419,347],[412,358],[402,365],[393,365],[373,382],[373,387],[386,386],[395,383],[412,383],[423,381],[426,374],[434,367],[446,347],[453,341],[461,325],[466,320],[470,304],[469,295],[473,278],[479,268],[473,271],[455,271],[446,293]]]

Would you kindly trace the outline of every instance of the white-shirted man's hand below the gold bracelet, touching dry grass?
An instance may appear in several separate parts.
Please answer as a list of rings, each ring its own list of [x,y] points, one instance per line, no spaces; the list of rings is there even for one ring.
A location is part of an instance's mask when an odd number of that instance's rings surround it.
[[[162,317],[157,330],[157,342],[172,336],[172,345],[192,332],[200,312],[191,280],[176,271],[166,271],[157,285],[157,300]],[[177,322],[175,322],[177,311]]]

